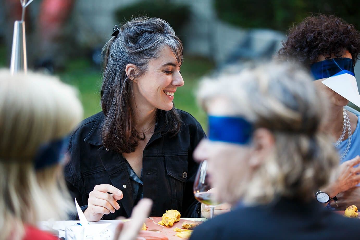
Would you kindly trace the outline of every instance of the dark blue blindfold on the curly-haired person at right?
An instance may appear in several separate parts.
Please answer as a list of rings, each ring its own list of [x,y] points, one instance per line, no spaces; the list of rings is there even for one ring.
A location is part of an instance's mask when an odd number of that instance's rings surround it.
[[[313,63],[310,66],[310,71],[315,80],[328,78],[342,73],[349,73],[352,76],[355,76],[354,65],[351,58],[332,58]]]

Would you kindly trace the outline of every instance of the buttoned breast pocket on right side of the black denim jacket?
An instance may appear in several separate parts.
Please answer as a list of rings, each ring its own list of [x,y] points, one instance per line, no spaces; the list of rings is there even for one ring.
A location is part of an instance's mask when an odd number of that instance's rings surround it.
[[[185,182],[188,180],[188,153],[165,157],[166,173],[171,187],[171,198],[181,209]]]

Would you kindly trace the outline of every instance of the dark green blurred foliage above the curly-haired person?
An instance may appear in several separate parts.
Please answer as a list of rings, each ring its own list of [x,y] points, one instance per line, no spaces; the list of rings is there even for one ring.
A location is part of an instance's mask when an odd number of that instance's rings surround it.
[[[245,28],[286,31],[312,13],[333,14],[360,29],[359,0],[214,0],[220,19]]]

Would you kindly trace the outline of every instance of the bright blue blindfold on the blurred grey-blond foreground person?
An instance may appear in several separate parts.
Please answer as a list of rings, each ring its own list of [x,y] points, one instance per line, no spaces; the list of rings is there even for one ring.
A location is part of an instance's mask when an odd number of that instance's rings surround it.
[[[241,117],[209,116],[209,140],[248,144],[253,126]]]

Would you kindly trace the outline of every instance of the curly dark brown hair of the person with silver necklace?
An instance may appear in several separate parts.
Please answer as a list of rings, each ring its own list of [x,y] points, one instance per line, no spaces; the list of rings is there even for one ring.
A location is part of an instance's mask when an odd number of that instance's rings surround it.
[[[320,55],[337,58],[348,50],[355,66],[359,59],[360,33],[352,24],[334,15],[319,14],[304,19],[288,30],[279,57],[293,59],[309,66]]]

